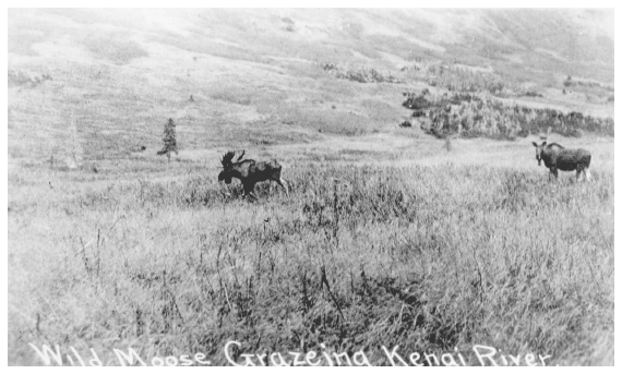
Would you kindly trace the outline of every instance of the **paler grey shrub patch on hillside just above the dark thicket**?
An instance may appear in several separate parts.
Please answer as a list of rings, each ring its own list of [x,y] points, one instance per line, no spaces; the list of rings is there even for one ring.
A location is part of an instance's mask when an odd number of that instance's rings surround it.
[[[428,84],[452,92],[488,92],[498,97],[542,97],[534,89],[525,89],[515,84],[502,82],[494,74],[443,64],[428,68]]]

